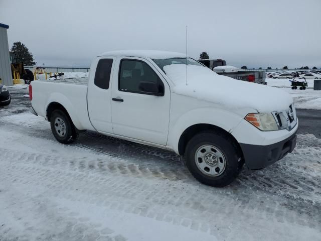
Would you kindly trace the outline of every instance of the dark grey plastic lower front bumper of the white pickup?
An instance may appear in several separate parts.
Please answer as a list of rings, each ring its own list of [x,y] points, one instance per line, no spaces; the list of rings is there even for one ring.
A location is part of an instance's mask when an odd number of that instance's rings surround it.
[[[296,131],[283,141],[261,146],[240,143],[245,164],[249,169],[261,169],[282,159],[291,153],[296,145]]]

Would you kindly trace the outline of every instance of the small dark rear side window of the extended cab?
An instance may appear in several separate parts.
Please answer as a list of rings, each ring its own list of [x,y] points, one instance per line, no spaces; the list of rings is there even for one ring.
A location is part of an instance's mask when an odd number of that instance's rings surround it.
[[[95,73],[95,85],[102,89],[109,88],[112,59],[100,59]]]

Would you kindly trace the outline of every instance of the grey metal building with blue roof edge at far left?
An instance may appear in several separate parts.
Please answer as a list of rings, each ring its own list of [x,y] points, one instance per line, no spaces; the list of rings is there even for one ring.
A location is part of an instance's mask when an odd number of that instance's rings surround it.
[[[2,84],[10,86],[13,85],[13,79],[11,75],[7,29],[9,29],[8,25],[0,23],[0,78],[2,79]]]

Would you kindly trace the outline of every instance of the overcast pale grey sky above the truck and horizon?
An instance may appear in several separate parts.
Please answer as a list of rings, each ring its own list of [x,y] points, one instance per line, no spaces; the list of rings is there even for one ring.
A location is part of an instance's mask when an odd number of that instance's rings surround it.
[[[87,67],[119,49],[186,51],[240,67],[321,68],[320,0],[0,0],[9,48],[37,65]]]

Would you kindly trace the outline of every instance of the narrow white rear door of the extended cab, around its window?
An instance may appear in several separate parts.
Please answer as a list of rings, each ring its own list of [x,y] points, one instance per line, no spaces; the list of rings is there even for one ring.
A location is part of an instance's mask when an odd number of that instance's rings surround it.
[[[115,57],[98,57],[91,66],[88,81],[87,105],[90,122],[97,131],[112,133],[111,76]]]

